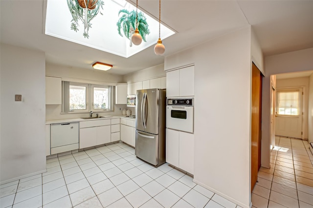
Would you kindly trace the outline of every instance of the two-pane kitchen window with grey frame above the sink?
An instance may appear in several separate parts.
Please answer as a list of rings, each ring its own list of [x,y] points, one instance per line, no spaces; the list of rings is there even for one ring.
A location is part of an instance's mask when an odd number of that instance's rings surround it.
[[[62,113],[112,111],[114,87],[62,81]]]

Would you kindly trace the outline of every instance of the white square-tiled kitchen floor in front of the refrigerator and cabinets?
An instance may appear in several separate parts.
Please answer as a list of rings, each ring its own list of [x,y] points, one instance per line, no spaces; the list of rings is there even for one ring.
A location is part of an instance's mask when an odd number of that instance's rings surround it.
[[[1,185],[0,207],[239,208],[168,164],[155,168],[137,159],[123,143],[47,159],[46,166],[43,174]]]

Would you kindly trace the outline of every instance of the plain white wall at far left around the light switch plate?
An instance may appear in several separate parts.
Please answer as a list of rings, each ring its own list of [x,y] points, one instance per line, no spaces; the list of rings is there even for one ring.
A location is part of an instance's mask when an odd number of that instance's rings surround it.
[[[0,183],[45,171],[45,53],[1,44]],[[15,94],[22,102],[15,102]]]

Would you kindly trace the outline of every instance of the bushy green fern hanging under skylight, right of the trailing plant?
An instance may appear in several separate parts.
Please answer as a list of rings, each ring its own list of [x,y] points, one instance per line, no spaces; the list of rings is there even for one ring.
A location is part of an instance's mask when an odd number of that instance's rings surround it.
[[[122,16],[118,19],[116,25],[117,25],[117,31],[120,36],[123,37],[123,34],[126,38],[131,40],[132,35],[134,34],[134,30],[136,28],[136,11],[128,11],[127,9],[121,9],[118,12],[118,16],[122,14]],[[142,40],[146,42],[146,35],[150,34],[150,30],[148,28],[148,23],[146,21],[146,17],[142,12],[138,13],[138,22],[137,22],[137,28],[139,30],[139,34],[142,37]],[[122,30],[122,31],[121,31]],[[123,33],[123,34],[122,34]],[[132,46],[132,41],[130,42],[130,46]]]

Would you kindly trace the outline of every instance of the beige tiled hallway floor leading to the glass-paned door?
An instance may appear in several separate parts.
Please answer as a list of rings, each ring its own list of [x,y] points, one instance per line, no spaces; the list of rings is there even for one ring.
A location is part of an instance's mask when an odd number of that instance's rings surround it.
[[[313,155],[309,143],[276,137],[270,169],[261,167],[251,201],[255,208],[313,208]]]

